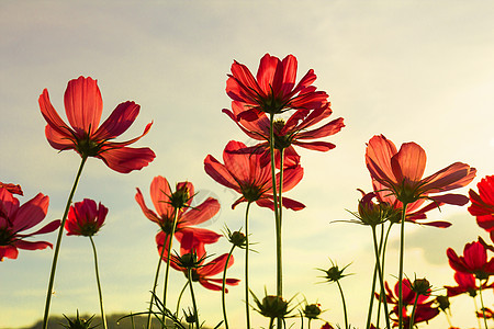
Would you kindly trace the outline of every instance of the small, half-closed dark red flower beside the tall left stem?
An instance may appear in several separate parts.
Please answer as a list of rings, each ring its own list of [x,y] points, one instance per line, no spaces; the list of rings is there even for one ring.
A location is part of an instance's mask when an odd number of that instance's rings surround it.
[[[96,235],[106,218],[108,208],[101,204],[97,205],[93,200],[85,198],[70,206],[65,222],[68,236],[91,237]]]

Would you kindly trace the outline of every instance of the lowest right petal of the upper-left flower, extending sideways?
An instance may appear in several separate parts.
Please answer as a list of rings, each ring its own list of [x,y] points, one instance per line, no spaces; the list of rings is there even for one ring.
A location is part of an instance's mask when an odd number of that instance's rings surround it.
[[[128,173],[141,170],[155,159],[155,152],[148,148],[119,147],[105,149],[97,156],[116,172]]]

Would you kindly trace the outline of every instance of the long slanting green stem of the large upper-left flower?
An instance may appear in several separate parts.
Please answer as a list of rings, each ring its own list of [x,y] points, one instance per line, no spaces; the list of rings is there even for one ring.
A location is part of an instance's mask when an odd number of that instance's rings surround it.
[[[79,170],[77,171],[77,174],[76,174],[76,180],[74,181],[72,190],[70,191],[69,197],[67,200],[67,204],[65,206],[64,216],[61,216],[60,228],[58,229],[57,242],[55,245],[55,252],[53,254],[52,272],[49,274],[48,290],[46,292],[45,314],[43,317],[43,329],[46,329],[48,327],[49,304],[52,302],[53,285],[55,283],[55,272],[57,270],[57,261],[58,261],[58,254],[60,252],[60,243],[61,243],[61,236],[64,235],[65,222],[67,220],[67,214],[70,208],[70,204],[72,203],[72,197],[74,197],[74,194],[76,193],[76,188],[79,182],[80,175],[82,173],[82,168],[85,167],[87,159],[88,159],[87,156],[83,156],[81,159]]]

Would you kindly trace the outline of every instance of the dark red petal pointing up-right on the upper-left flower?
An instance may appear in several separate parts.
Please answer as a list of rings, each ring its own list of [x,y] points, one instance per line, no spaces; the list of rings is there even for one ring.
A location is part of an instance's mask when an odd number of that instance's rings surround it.
[[[125,133],[139,114],[141,106],[134,102],[121,103],[113,110],[112,114],[103,122],[92,138],[106,140],[115,138]],[[143,134],[144,136],[145,134]]]

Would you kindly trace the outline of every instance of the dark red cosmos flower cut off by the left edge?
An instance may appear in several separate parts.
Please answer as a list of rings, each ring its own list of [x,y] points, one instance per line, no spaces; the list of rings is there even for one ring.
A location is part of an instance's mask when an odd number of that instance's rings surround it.
[[[16,259],[18,249],[38,250],[53,248],[47,241],[26,241],[25,238],[47,234],[60,226],[60,220],[54,220],[31,234],[21,234],[37,224],[46,216],[49,197],[38,193],[20,206],[19,200],[7,189],[0,188],[0,261],[3,258]]]

